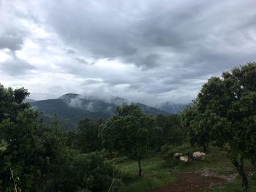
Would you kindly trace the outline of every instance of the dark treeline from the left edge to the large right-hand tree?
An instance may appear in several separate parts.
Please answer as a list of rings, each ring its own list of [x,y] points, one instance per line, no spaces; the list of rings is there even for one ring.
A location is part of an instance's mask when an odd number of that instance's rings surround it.
[[[85,118],[77,131],[43,118],[23,102],[25,88],[0,85],[0,191],[106,191],[112,182],[109,154],[138,160],[183,138],[178,115],[145,115],[131,104],[103,122]],[[180,137],[173,137],[179,135]]]

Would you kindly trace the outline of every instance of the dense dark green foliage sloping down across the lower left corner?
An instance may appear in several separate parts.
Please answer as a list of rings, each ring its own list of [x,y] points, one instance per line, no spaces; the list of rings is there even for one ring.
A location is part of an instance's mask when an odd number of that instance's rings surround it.
[[[0,85],[0,191],[105,191],[110,168],[99,153],[78,153],[59,122],[46,126],[29,93]]]

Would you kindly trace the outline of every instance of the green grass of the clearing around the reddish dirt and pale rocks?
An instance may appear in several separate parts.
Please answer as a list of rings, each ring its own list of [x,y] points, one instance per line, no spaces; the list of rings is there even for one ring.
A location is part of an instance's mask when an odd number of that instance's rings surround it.
[[[179,147],[177,152],[186,153],[188,151],[196,151],[200,148],[197,147]],[[116,165],[121,173],[119,178],[128,178],[127,182],[120,186],[120,191],[150,191],[153,188],[159,188],[167,185],[168,183],[175,182],[176,173],[185,172],[198,172],[207,169],[219,175],[236,174],[233,164],[226,157],[226,153],[211,147],[206,161],[196,161],[188,165],[176,166],[170,169],[164,166],[164,161],[159,154],[151,158],[146,158],[142,161],[143,177],[138,177],[138,164],[135,161],[124,161]],[[246,161],[246,169],[255,170],[249,161]],[[254,171],[255,172],[255,171]],[[254,176],[249,177],[250,191],[256,191],[256,172]],[[208,191],[240,191],[241,180],[238,177],[235,183],[225,183],[222,185],[214,186]]]

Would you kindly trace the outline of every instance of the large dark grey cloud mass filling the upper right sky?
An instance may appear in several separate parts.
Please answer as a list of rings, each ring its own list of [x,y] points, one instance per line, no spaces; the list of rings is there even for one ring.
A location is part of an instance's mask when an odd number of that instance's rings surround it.
[[[253,1],[61,1],[50,4],[48,22],[70,45],[95,57],[120,58],[148,69],[161,58],[195,67],[228,69],[253,59],[230,57],[255,42]],[[69,13],[67,17],[67,13]],[[65,16],[66,15],[66,16]],[[233,50],[230,50],[232,48]],[[217,53],[217,51],[223,53]],[[246,50],[247,51],[247,50]],[[244,51],[244,52],[246,52]],[[227,54],[225,52],[228,52]],[[184,53],[181,57],[179,53]],[[227,56],[230,58],[227,60]],[[184,61],[185,60],[185,61]],[[184,63],[185,62],[185,63]]]

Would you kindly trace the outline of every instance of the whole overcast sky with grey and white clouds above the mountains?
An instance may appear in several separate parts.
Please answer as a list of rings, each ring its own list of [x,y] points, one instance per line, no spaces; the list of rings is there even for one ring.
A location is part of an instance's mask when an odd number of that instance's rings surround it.
[[[255,58],[255,0],[0,0],[0,83],[31,99],[184,103]]]

